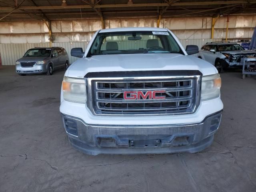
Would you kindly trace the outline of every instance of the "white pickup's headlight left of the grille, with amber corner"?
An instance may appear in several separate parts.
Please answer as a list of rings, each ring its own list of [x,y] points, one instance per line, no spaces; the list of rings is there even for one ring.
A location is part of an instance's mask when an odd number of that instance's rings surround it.
[[[64,100],[75,103],[86,102],[86,86],[84,79],[64,76],[62,90]]]

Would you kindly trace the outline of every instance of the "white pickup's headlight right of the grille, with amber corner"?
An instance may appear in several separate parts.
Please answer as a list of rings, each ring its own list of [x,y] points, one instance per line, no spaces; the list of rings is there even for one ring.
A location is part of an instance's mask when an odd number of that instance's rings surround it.
[[[221,78],[220,74],[203,76],[201,99],[209,100],[220,96]]]

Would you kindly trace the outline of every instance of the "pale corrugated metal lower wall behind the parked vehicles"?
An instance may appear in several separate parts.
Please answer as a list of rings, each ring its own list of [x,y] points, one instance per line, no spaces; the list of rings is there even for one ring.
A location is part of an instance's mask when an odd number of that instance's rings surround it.
[[[187,45],[197,45],[199,48],[206,42],[221,41],[221,39],[189,39],[180,40],[181,44],[186,48]],[[53,47],[63,47],[69,55],[70,63],[73,63],[78,58],[70,56],[70,51],[75,47],[82,47],[86,49],[88,42],[62,42],[52,43]],[[19,44],[0,44],[0,53],[2,58],[2,65],[15,65],[17,59],[21,58],[25,52],[34,47],[49,47],[49,43],[19,43]]]

